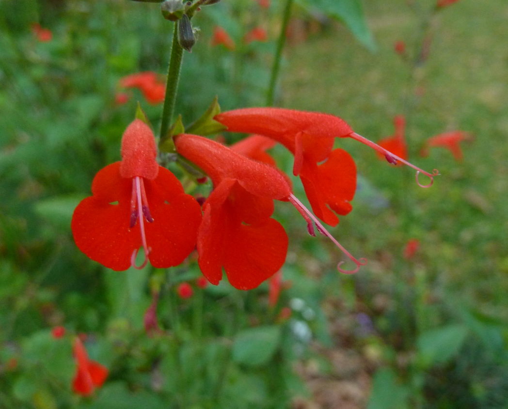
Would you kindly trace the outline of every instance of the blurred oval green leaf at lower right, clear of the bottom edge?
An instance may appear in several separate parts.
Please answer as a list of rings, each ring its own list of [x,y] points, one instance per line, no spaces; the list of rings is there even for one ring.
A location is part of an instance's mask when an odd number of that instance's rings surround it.
[[[424,366],[444,363],[456,356],[468,334],[464,324],[452,324],[423,332],[418,338],[418,354]]]

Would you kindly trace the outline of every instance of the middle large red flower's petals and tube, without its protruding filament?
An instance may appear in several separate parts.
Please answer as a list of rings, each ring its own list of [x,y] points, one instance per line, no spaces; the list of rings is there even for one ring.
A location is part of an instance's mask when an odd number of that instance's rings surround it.
[[[217,285],[222,268],[233,287],[249,290],[284,263],[288,236],[272,219],[273,200],[287,200],[291,189],[271,166],[196,135],[175,138],[178,153],[211,178],[214,190],[203,204],[198,231],[198,263]]]

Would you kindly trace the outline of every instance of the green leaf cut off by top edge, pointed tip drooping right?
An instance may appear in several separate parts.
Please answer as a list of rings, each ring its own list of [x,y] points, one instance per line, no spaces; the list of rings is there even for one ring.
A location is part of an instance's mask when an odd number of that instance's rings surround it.
[[[376,44],[367,26],[361,0],[299,0],[308,10],[319,11],[329,17],[341,20],[351,33],[370,51],[375,51]]]

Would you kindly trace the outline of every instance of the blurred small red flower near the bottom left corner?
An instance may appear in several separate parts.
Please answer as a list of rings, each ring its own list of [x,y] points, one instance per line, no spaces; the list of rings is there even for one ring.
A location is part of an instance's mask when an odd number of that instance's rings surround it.
[[[108,377],[108,369],[100,363],[88,359],[86,349],[78,337],[74,338],[73,353],[77,368],[72,381],[72,389],[80,395],[88,396],[95,388],[100,388],[104,384]]]

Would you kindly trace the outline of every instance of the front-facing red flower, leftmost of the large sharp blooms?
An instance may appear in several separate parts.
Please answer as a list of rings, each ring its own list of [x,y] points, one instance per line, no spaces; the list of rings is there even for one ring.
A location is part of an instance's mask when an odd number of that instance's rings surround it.
[[[71,228],[77,246],[90,259],[113,270],[180,264],[195,248],[201,210],[179,180],[155,161],[153,133],[139,119],[125,130],[122,161],[101,169],[93,196],[74,210]],[[135,265],[139,247],[145,252]]]

